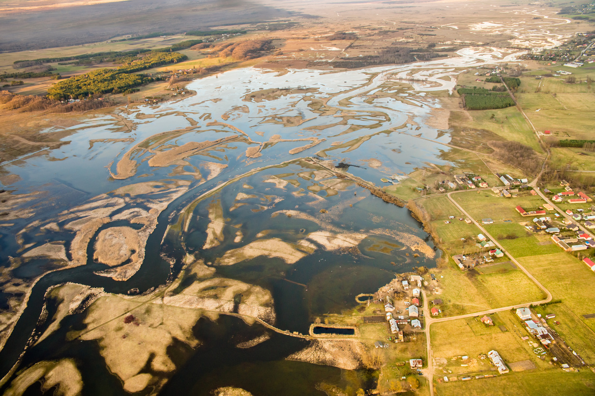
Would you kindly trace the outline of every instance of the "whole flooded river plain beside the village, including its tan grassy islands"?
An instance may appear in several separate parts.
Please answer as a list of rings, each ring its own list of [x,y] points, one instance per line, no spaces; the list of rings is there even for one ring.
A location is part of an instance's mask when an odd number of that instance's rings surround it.
[[[235,69],[186,99],[87,116],[68,144],[4,164],[21,201],[0,227],[3,391],[40,394],[50,374],[98,395],[371,386],[362,370],[285,360],[309,341],[263,322],[307,334],[395,273],[435,265],[408,210],[356,181],[446,164],[444,145],[418,138],[450,140],[428,126],[433,91],[516,55]]]

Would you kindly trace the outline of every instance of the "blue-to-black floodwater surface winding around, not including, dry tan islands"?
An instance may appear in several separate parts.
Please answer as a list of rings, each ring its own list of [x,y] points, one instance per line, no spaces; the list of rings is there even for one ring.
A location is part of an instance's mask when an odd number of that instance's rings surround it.
[[[450,140],[448,133],[439,135],[427,125],[431,110],[439,106],[428,93],[452,90],[453,76],[461,68],[515,57],[487,47],[458,55],[345,72],[236,69],[194,81],[188,88],[196,95],[177,102],[121,107],[115,115],[86,118],[67,128],[68,144],[4,164],[4,172],[19,178],[5,189],[12,195],[39,194],[14,208],[26,216],[2,221],[0,227],[0,260],[8,274],[0,289],[0,314],[26,302],[0,351],[0,376],[8,375],[2,390],[11,386],[19,370],[36,362],[73,359],[84,394],[105,394],[105,389],[125,393],[99,341],[69,338],[69,331],[86,326],[93,305],[66,316],[57,330],[31,346],[31,335],[47,330],[58,311],[61,301],[45,297],[46,290],[57,285],[77,283],[101,287],[105,293],[151,296],[152,290],[180,276],[183,259],[190,255],[214,268],[218,277],[270,291],[275,327],[307,332],[315,318],[353,308],[357,294],[375,292],[395,273],[432,267],[439,252],[405,208],[381,201],[327,168],[343,163],[355,177],[381,185],[381,178],[404,175],[427,162],[445,164],[440,158],[443,145],[414,136]],[[222,138],[231,140],[158,166],[151,161],[184,144]],[[249,147],[258,147],[261,156],[246,157]],[[379,164],[372,167],[371,159]],[[118,179],[124,177],[118,168],[123,160],[134,166],[129,177]],[[140,183],[162,192],[114,192]],[[179,185],[182,193],[168,198],[168,191]],[[121,202],[112,211],[83,206],[112,198]],[[167,205],[148,237],[140,269],[126,281],[102,276],[107,267],[93,260],[98,233],[114,226],[139,229],[138,223],[121,216],[146,212],[158,202]],[[215,204],[221,208],[216,219],[223,223],[221,240],[205,249],[212,220],[209,207]],[[47,256],[21,256],[55,242],[65,246],[66,258],[72,260],[70,243],[77,231],[69,224],[94,217],[108,220],[90,237],[85,265],[68,267]],[[280,240],[303,251],[295,262],[261,254],[222,264],[228,252],[259,240]],[[345,240],[351,242],[342,245]],[[413,259],[414,252],[421,255]],[[16,317],[14,311],[7,317]],[[324,394],[317,388],[323,381],[343,388],[373,386],[367,373],[354,377],[346,370],[284,360],[307,346],[288,335],[272,334],[257,346],[237,349],[233,340],[267,331],[258,324],[221,315],[215,321],[202,317],[191,331],[200,346],[193,349],[181,341],[169,346],[175,369],[165,375],[167,381],[143,394],[209,394],[219,387],[262,395]],[[11,372],[13,367],[17,371]],[[39,383],[27,389],[27,394],[40,392]]]

